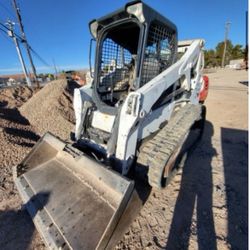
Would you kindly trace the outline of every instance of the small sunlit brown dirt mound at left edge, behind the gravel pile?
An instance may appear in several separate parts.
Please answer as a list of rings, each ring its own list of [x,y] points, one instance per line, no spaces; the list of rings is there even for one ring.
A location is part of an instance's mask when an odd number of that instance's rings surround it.
[[[28,86],[0,89],[0,107],[20,107],[35,92],[37,92],[37,90]]]

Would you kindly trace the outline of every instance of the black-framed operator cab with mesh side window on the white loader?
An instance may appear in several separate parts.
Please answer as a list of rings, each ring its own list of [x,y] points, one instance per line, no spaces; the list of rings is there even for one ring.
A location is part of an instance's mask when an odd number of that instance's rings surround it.
[[[116,113],[129,92],[176,60],[176,26],[141,1],[91,21],[90,31],[97,42],[93,100],[105,113]]]

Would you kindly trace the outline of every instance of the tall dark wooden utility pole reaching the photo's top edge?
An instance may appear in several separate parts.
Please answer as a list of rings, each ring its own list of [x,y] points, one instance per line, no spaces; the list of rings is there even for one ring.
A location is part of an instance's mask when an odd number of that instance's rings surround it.
[[[20,14],[20,9],[17,6],[16,0],[12,0],[12,3],[13,3],[13,7],[15,9],[15,12],[16,12],[16,16],[17,16],[17,20],[18,20],[19,26],[20,26],[21,36],[22,36],[22,39],[23,39],[23,43],[25,44],[25,47],[26,47],[26,50],[27,50],[27,54],[28,54],[28,57],[29,57],[30,65],[31,65],[31,68],[32,68],[32,71],[33,71],[33,75],[34,75],[34,80],[35,80],[35,82],[37,84],[37,87],[39,88],[40,85],[39,85],[39,82],[37,80],[36,68],[34,66],[34,63],[33,63],[33,60],[32,60],[31,54],[30,54],[30,47],[29,47],[29,44],[27,42],[27,39],[26,39],[26,36],[25,36],[25,33],[24,33],[24,28],[23,28],[23,24],[22,24],[22,18],[21,18],[21,14]]]

